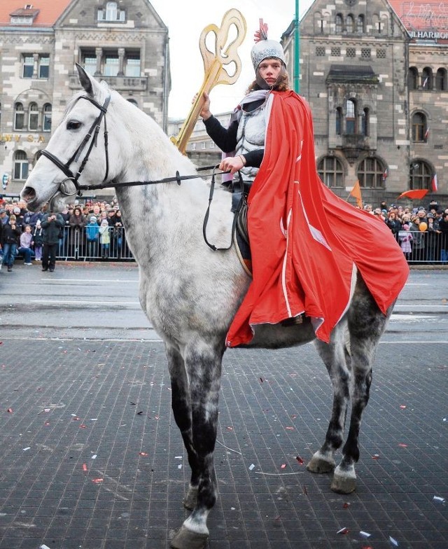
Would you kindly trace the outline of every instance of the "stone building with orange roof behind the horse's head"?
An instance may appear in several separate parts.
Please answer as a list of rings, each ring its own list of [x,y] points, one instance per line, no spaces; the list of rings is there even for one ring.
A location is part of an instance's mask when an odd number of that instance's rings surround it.
[[[31,1],[0,3],[0,175],[10,195],[80,90],[75,63],[168,122],[168,29],[148,0]]]

